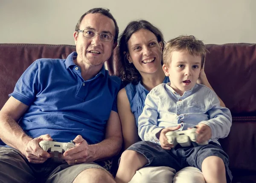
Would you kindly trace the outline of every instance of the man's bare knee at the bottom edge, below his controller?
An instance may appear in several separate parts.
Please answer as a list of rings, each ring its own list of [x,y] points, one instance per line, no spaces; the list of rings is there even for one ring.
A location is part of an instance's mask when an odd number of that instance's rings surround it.
[[[113,176],[100,168],[88,168],[75,178],[73,183],[115,183]]]

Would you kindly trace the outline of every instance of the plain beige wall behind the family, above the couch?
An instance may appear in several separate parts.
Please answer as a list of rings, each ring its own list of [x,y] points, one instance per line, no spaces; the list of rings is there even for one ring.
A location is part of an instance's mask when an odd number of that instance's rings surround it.
[[[206,44],[256,43],[255,0],[0,0],[0,43],[74,44],[79,17],[94,7],[110,9],[120,31],[142,18],[166,41],[187,34]]]

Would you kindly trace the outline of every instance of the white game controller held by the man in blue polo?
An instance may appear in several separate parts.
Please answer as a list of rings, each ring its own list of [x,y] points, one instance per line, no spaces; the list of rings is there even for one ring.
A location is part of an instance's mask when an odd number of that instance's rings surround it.
[[[47,152],[51,152],[54,154],[54,157],[58,157],[58,153],[63,154],[65,151],[69,150],[70,148],[75,147],[75,142],[72,140],[70,142],[55,142],[55,141],[48,141],[42,140],[39,142],[39,146]]]

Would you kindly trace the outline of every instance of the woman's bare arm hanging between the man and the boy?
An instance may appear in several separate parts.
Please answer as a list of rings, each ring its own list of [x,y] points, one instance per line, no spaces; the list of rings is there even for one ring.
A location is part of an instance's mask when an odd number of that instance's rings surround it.
[[[138,128],[134,114],[131,112],[131,106],[126,95],[125,88],[120,90],[117,95],[117,110],[122,125],[122,136],[125,150],[135,142],[139,141]]]

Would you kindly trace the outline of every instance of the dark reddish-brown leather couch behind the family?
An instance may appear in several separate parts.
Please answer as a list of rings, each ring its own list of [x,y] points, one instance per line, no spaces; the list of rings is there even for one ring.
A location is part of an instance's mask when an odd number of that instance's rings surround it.
[[[207,78],[233,115],[229,136],[220,139],[230,157],[233,183],[256,183],[256,44],[209,44],[207,48]],[[72,45],[0,44],[0,108],[33,61],[66,58],[75,49]],[[118,75],[118,57],[113,55],[105,68]]]

